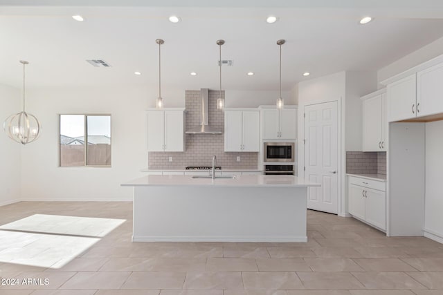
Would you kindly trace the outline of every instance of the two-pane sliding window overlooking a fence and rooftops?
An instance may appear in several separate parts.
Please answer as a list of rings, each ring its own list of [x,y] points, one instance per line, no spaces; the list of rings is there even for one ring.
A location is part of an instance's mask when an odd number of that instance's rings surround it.
[[[111,115],[60,115],[60,166],[111,166]]]

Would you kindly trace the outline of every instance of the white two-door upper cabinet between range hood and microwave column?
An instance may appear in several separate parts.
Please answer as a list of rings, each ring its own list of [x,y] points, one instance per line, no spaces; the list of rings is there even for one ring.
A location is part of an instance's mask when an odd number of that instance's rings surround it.
[[[224,112],[224,151],[260,151],[260,112]]]

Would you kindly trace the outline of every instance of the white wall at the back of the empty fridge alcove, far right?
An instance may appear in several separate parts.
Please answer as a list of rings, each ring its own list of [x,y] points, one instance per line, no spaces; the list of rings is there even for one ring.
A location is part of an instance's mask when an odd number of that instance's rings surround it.
[[[426,123],[426,180],[424,229],[443,242],[443,121]]]

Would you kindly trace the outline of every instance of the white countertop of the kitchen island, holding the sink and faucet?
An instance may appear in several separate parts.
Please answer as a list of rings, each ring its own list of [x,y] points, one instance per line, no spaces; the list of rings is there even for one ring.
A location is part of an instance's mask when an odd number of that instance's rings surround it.
[[[131,180],[122,187],[320,187],[292,175],[239,175],[237,178],[192,178],[192,175],[147,175]]]

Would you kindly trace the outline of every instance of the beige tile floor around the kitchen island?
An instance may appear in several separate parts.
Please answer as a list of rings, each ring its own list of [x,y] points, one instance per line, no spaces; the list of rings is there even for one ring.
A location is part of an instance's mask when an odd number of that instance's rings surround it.
[[[11,204],[0,207],[0,295],[443,294],[442,244],[307,218],[307,243],[132,243],[131,202]]]

